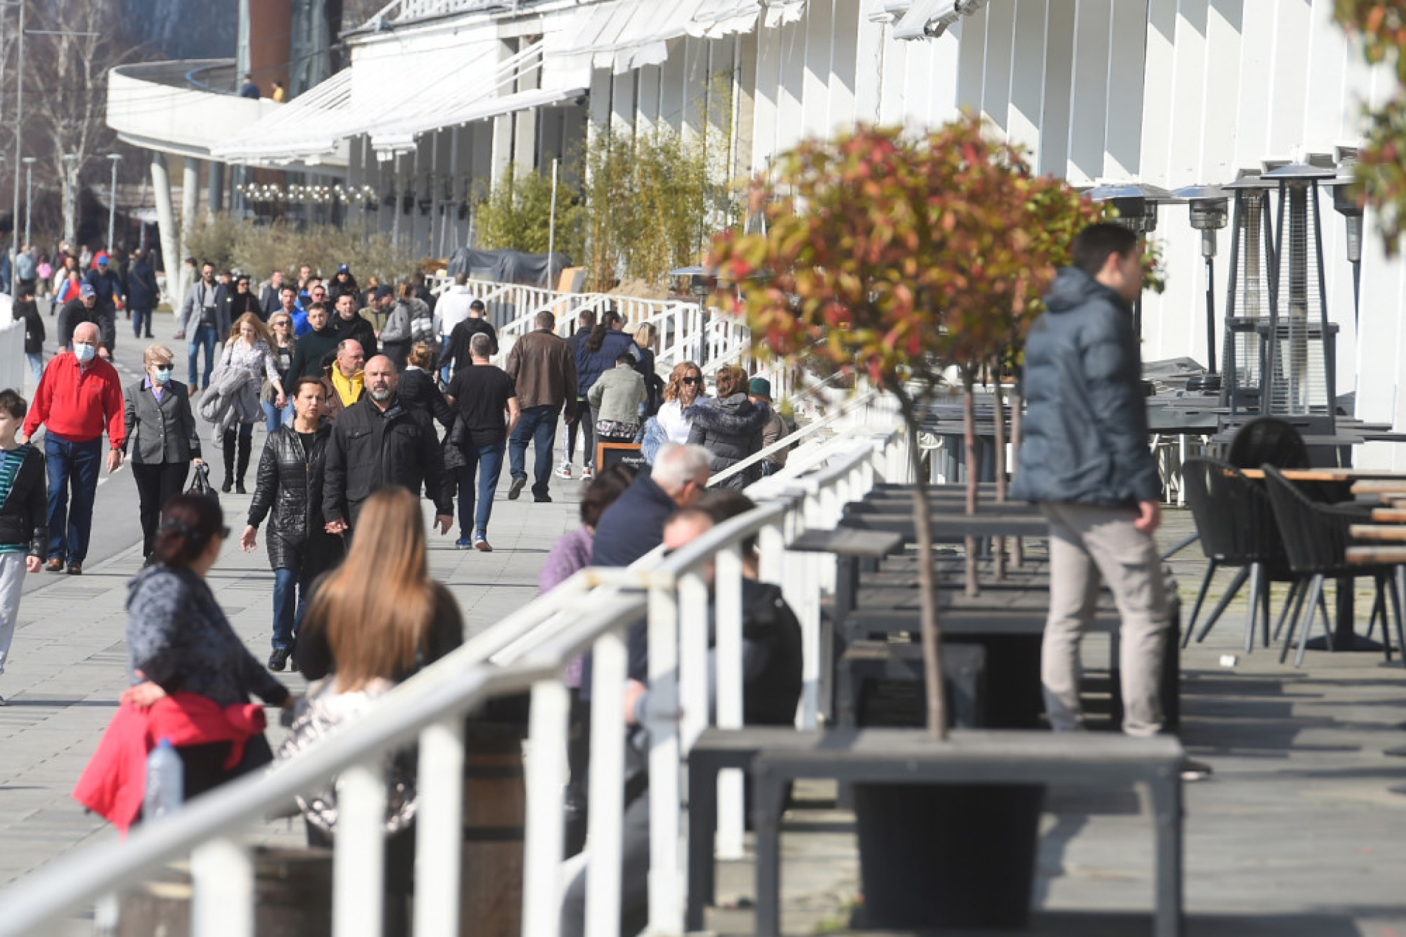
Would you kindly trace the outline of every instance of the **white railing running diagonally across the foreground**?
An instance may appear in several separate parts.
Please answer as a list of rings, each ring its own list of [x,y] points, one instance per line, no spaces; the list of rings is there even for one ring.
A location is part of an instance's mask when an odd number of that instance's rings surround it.
[[[740,727],[742,713],[744,540],[759,543],[761,578],[780,582],[801,622],[803,696],[799,720],[818,719],[825,642],[820,605],[834,560],[796,553],[787,544],[807,526],[832,526],[844,504],[877,480],[908,478],[904,436],[896,429],[852,431],[808,459],[752,487],[759,505],[718,525],[669,557],[650,556],[630,570],[583,570],[551,594],[405,681],[354,725],[271,771],[214,791],[177,812],[139,824],[125,841],[79,850],[0,893],[0,937],[53,933],[65,919],[131,886],[165,864],[191,857],[193,934],[253,933],[253,865],[240,834],[297,792],[340,778],[339,834],[333,853],[333,934],[378,934],[381,839],[385,805],[384,753],[419,744],[416,841],[416,937],[458,930],[463,816],[463,718],[484,701],[530,689],[526,765],[526,840],[522,933],[558,933],[562,882],[562,798],[568,691],[562,668],[593,651],[589,775],[586,933],[619,933],[619,881],[624,789],[620,722],[626,678],[626,633],[648,616],[651,722],[650,931],[682,933],[686,836],[682,823],[683,764],[692,743],[711,725]],[[804,463],[804,464],[803,464]],[[713,566],[717,706],[707,701],[706,568]],[[828,573],[828,575],[827,575]],[[675,695],[676,694],[676,695]],[[742,848],[742,781],[718,781],[717,850]]]

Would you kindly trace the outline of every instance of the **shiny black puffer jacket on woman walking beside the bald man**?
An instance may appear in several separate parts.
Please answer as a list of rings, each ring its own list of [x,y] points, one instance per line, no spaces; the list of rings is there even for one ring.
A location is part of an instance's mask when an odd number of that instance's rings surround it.
[[[340,543],[323,530],[326,521],[322,519],[329,436],[332,428],[321,426],[309,453],[292,426],[280,426],[264,443],[249,504],[249,526],[257,528],[269,518],[269,564],[276,570],[302,570],[301,560],[308,556],[299,549],[309,540],[316,540],[319,547],[332,546],[323,539]]]

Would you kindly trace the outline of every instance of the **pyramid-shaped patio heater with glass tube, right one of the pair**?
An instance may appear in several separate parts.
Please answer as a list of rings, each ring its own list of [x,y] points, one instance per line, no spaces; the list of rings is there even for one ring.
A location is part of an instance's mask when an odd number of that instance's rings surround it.
[[[1319,183],[1334,174],[1289,163],[1263,176],[1279,189],[1279,224],[1274,238],[1274,302],[1268,324],[1260,326],[1267,348],[1260,376],[1261,412],[1310,418],[1310,425],[1329,435],[1336,429],[1337,324],[1327,318]]]

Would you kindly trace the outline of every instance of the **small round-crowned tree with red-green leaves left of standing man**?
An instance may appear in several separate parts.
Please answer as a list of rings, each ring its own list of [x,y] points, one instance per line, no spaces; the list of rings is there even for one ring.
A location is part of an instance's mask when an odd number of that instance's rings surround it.
[[[941,374],[950,366],[962,374],[970,442],[980,367],[1021,346],[1040,294],[1069,263],[1074,235],[1101,210],[1063,181],[1035,176],[1021,152],[988,139],[976,117],[925,136],[862,127],[808,141],[780,159],[775,181],[758,186],[768,200],[766,232],[724,232],[713,243],[713,263],[738,284],[723,298],[745,315],[759,355],[817,373],[858,370],[894,397],[917,477],[918,553],[931,559],[917,436]],[[969,445],[969,509],[973,450]],[[932,563],[918,570],[928,730],[941,739]]]

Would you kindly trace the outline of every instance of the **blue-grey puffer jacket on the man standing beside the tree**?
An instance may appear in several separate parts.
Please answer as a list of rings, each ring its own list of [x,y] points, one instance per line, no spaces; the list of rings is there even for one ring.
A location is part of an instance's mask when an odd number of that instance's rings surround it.
[[[1025,423],[1011,497],[1105,508],[1161,497],[1128,302],[1059,272],[1025,340]]]

